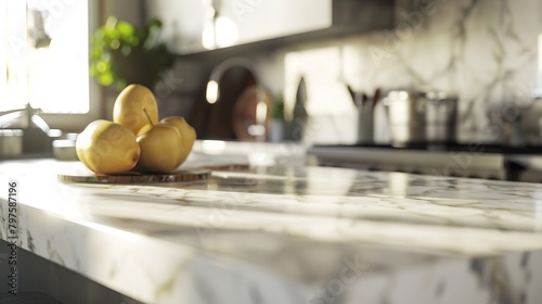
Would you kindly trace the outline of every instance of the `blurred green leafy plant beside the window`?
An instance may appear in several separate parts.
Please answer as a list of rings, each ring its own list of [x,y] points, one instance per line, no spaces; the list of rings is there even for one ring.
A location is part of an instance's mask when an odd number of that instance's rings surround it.
[[[173,54],[159,41],[162,22],[141,27],[109,17],[91,38],[90,74],[102,86],[119,90],[130,84],[153,89],[160,72],[173,65]]]

